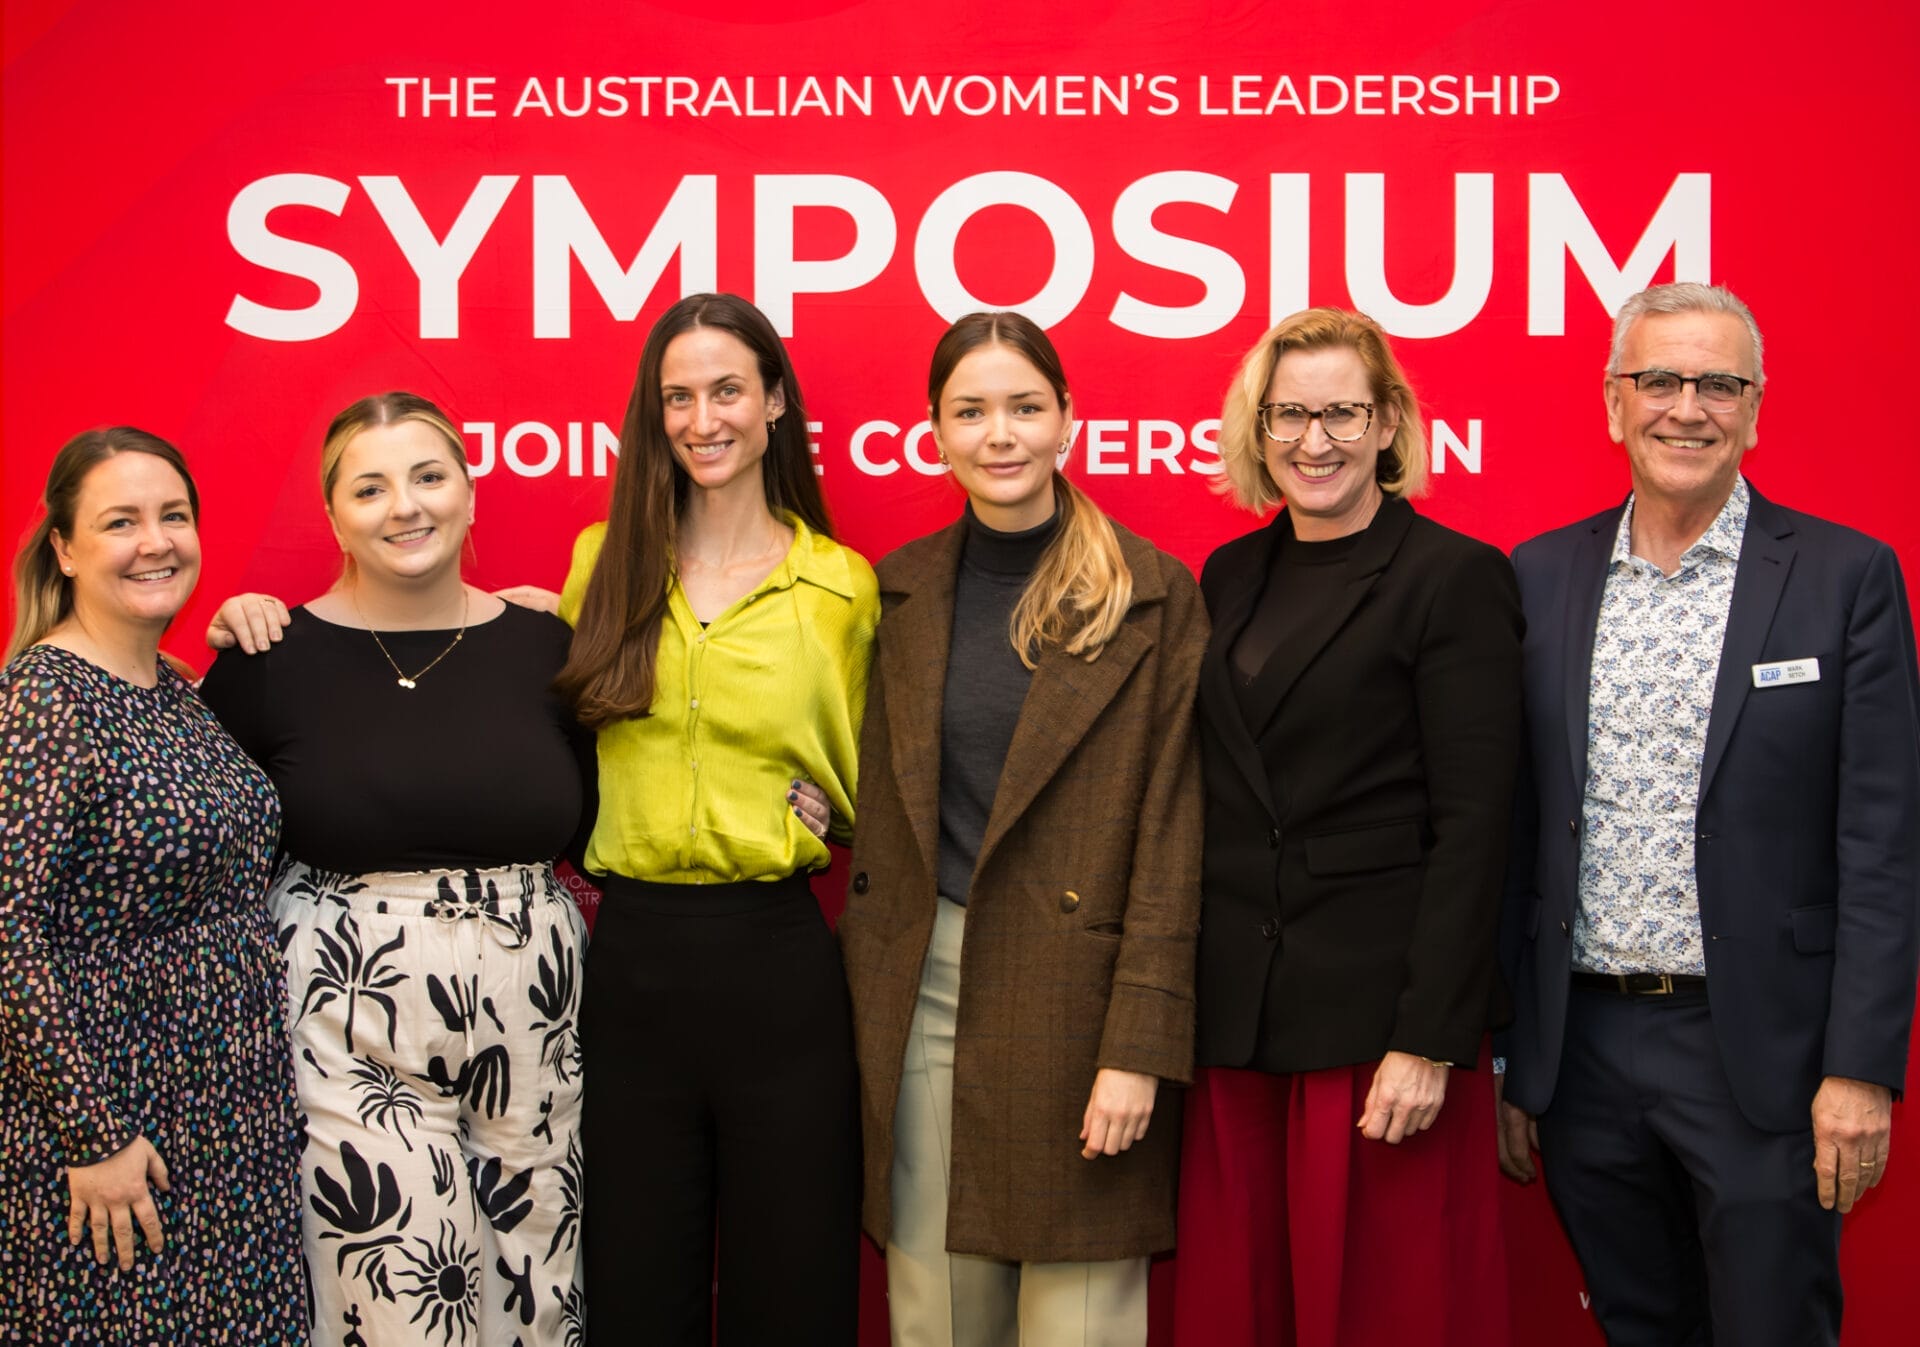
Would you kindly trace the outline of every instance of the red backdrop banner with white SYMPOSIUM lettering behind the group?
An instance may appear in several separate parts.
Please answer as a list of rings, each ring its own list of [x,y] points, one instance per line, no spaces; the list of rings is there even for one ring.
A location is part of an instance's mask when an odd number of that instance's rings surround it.
[[[789,338],[862,553],[954,516],[927,355],[1020,307],[1073,384],[1068,470],[1198,566],[1254,526],[1212,491],[1213,439],[1275,317],[1379,317],[1428,414],[1423,508],[1509,547],[1626,491],[1611,311],[1720,280],[1766,332],[1751,478],[1920,570],[1874,393],[1920,365],[1908,4],[8,0],[4,23],[0,524],[29,528],[77,430],[175,439],[205,570],[169,649],[202,664],[223,595],[330,581],[321,432],[369,391],[465,428],[474,579],[557,585],[647,324],[708,288]],[[1847,1220],[1855,1347],[1914,1334],[1895,1130]],[[1597,1341],[1544,1195],[1507,1215],[1519,1341]]]

